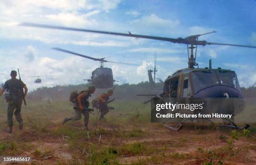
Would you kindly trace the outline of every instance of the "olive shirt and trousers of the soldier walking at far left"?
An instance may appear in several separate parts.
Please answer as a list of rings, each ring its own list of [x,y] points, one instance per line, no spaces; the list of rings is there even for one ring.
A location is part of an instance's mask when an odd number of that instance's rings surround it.
[[[22,105],[22,92],[21,90],[23,90],[23,87],[25,86],[25,84],[18,79],[10,79],[7,80],[4,84],[4,88],[8,90],[9,92],[9,100],[8,100],[8,110],[7,110],[7,122],[8,122],[8,126],[12,127],[13,126],[13,112],[14,115],[16,117],[16,120],[19,123],[22,123],[22,117],[20,114],[21,111],[21,105]]]

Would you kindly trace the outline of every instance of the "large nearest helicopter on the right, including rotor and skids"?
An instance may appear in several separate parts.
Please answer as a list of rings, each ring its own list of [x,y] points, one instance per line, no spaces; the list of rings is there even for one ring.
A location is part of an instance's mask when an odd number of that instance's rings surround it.
[[[81,28],[69,28],[61,26],[52,26],[52,25],[42,25],[42,24],[33,24],[33,23],[22,23],[20,25],[35,27],[35,28],[49,28],[49,29],[59,29],[59,30],[72,30],[79,32],[94,32],[107,35],[120,35],[125,37],[135,37],[135,38],[144,38],[151,40],[161,40],[179,44],[187,45],[187,55],[188,55],[188,67],[184,69],[177,70],[172,75],[169,75],[166,80],[164,80],[164,88],[162,92],[158,95],[152,97],[152,99],[161,100],[161,97],[169,98],[240,98],[242,101],[241,107],[245,105],[246,99],[241,93],[239,86],[238,78],[236,72],[233,70],[222,69],[221,67],[212,68],[212,62],[209,60],[209,67],[199,68],[198,63],[196,62],[197,55],[197,46],[202,45],[227,45],[227,46],[236,46],[236,47],[248,47],[256,48],[256,46],[250,45],[236,45],[228,43],[217,43],[217,42],[207,42],[206,40],[198,40],[202,35],[208,35],[215,33],[216,31],[207,32],[199,35],[191,35],[185,38],[169,38],[169,37],[157,37],[150,35],[136,35],[131,32],[120,33],[120,32],[108,32],[100,30],[88,30]],[[190,55],[189,55],[190,52]],[[194,54],[195,52],[195,54]],[[195,68],[197,67],[197,68]],[[149,70],[148,74],[153,71]],[[240,112],[243,110],[241,108]],[[167,120],[170,120],[167,119]],[[162,122],[164,123],[167,121]],[[223,125],[232,128],[240,128],[234,122],[228,121],[232,125]],[[178,131],[182,128],[184,120],[179,122],[176,127],[170,127],[164,125],[170,130]],[[246,125],[244,128],[247,129],[250,125]]]

